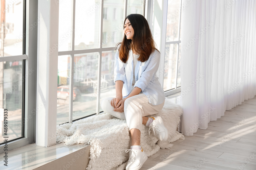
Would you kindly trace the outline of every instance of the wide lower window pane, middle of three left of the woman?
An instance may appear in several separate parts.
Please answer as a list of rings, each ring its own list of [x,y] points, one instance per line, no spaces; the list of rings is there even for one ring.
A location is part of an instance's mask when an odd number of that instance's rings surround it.
[[[73,120],[96,113],[98,57],[99,53],[74,57]]]

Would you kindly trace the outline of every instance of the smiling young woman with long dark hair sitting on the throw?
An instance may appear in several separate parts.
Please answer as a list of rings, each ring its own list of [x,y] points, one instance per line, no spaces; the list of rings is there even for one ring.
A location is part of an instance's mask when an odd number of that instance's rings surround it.
[[[115,98],[104,98],[101,108],[120,119],[126,119],[132,144],[126,169],[140,169],[147,155],[140,146],[142,124],[154,130],[162,140],[168,138],[161,117],[145,117],[162,110],[165,95],[156,72],[160,53],[155,47],[147,20],[140,14],[128,15],[124,20],[123,41],[117,45],[114,82]]]

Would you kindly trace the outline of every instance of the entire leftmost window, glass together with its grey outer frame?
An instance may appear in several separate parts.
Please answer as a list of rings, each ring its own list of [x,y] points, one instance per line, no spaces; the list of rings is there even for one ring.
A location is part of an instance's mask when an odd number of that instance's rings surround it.
[[[7,140],[8,151],[35,141],[35,49],[40,21],[34,10],[37,3],[31,1],[26,9],[27,1],[1,0],[0,4],[0,148]]]

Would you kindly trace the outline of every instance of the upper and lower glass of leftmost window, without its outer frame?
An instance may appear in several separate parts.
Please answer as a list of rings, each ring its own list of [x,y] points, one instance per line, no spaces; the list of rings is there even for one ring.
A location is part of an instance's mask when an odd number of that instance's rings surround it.
[[[1,1],[0,22],[0,137],[12,141],[24,136],[23,0]],[[13,56],[16,59],[13,59]],[[18,59],[20,58],[20,59]]]

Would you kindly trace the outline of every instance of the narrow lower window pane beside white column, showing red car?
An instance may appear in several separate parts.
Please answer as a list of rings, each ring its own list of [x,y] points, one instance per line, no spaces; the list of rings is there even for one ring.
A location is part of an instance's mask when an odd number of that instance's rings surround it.
[[[70,55],[58,57],[57,125],[69,118]]]

